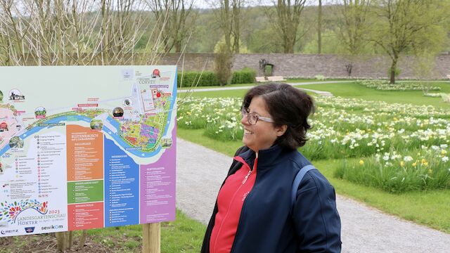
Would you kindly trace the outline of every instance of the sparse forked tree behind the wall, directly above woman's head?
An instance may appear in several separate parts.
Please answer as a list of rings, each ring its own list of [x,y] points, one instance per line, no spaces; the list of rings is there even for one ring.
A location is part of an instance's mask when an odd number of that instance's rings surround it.
[[[281,33],[284,53],[294,53],[297,30],[306,0],[278,0],[274,25]]]

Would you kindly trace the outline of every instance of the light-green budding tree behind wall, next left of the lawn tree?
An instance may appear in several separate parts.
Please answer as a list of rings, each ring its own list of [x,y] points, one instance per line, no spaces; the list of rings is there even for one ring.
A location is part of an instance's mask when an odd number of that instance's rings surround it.
[[[371,0],[344,0],[338,6],[342,15],[338,26],[338,35],[345,44],[347,53],[356,56],[368,43],[368,20]]]

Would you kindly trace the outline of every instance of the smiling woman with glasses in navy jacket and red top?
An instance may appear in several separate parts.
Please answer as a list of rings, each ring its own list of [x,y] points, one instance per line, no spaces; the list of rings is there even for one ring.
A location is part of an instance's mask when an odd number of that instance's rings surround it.
[[[219,190],[202,252],[340,252],[334,188],[317,169],[305,170],[311,163],[297,151],[311,129],[311,96],[259,85],[241,109],[245,146]]]

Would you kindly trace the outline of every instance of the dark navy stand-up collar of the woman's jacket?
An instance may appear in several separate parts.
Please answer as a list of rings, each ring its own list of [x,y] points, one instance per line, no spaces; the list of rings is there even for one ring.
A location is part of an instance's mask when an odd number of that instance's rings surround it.
[[[283,154],[283,150],[284,148],[276,144],[265,150],[259,150],[257,165],[258,169],[271,167],[271,165],[273,165],[276,160],[281,157],[281,155]],[[253,163],[255,162],[256,158],[255,151],[249,149],[238,156],[242,157],[243,160],[250,166],[250,168],[253,167]]]

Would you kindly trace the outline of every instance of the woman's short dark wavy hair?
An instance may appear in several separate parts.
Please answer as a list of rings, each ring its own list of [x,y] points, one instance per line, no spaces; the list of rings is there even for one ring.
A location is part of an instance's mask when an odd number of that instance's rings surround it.
[[[302,147],[307,142],[307,130],[311,129],[307,119],[314,113],[311,96],[289,84],[263,84],[245,94],[242,108],[248,108],[256,96],[264,99],[275,126],[288,126],[275,143],[290,149]]]

